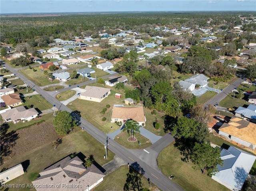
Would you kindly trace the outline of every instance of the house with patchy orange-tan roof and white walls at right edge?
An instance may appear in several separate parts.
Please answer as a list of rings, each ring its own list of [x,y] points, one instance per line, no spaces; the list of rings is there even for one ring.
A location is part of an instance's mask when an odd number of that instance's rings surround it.
[[[250,149],[256,148],[256,125],[238,117],[232,117],[219,128],[219,135],[242,144]]]

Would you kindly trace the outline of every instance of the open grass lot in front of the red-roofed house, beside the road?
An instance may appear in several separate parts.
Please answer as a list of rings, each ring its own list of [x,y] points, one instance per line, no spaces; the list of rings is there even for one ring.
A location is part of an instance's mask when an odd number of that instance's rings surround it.
[[[32,69],[24,69],[20,72],[38,86],[46,86],[49,84],[60,83],[60,81],[58,80],[51,81],[50,79],[48,79],[48,77],[44,75],[44,73],[39,69],[39,67],[34,67],[34,69],[36,69],[35,72]]]

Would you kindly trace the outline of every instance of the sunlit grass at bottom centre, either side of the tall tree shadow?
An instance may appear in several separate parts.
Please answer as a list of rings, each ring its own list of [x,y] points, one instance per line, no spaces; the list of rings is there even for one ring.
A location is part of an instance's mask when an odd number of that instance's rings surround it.
[[[97,187],[92,189],[93,191],[120,191],[124,190],[124,185],[127,179],[127,173],[129,172],[128,167],[121,166],[116,169],[114,172],[108,174],[104,177],[102,183],[100,183]],[[114,181],[113,181],[114,180]],[[148,188],[150,190],[155,190],[156,186],[150,183],[148,184],[148,180],[145,177],[142,177],[142,183],[144,188]]]

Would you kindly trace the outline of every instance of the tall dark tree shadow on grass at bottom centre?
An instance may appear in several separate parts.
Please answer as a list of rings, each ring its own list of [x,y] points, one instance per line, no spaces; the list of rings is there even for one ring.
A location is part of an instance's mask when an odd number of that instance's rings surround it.
[[[124,184],[124,191],[142,191],[144,184],[142,183],[142,176],[145,171],[137,162],[134,162],[129,167],[129,172],[126,174],[126,183]]]

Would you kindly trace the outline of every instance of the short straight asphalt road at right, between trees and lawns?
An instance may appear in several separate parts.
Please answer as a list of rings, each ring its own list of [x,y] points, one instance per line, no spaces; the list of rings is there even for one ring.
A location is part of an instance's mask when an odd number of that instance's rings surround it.
[[[208,105],[208,104],[214,105],[214,104],[220,102],[226,96],[228,96],[232,92],[232,90],[234,90],[234,88],[238,87],[243,81],[244,81],[244,79],[238,78],[236,81],[234,81],[228,87],[226,87],[226,89],[224,89],[221,93],[219,93],[214,98],[212,98],[211,100],[206,102],[205,105]]]

